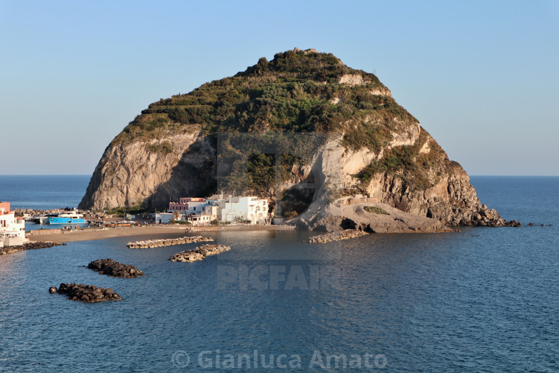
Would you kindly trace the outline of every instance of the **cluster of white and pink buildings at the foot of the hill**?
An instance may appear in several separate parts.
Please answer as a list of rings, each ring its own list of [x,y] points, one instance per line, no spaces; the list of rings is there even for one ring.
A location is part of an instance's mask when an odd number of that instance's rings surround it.
[[[175,215],[174,219],[188,221],[192,225],[209,224],[215,220],[230,222],[245,220],[250,221],[251,224],[266,223],[268,200],[255,196],[233,197],[224,194],[208,198],[185,197],[179,199],[178,202],[169,202],[168,213]],[[161,216],[156,217],[156,221],[159,219],[160,223],[166,222],[167,216],[159,215]]]

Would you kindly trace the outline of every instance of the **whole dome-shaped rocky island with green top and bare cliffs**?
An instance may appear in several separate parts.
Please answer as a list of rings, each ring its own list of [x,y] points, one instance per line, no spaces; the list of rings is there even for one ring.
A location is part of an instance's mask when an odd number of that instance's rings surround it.
[[[305,230],[519,225],[480,203],[376,75],[314,49],[151,103],[108,145],[79,207],[151,208],[222,190],[266,197]]]

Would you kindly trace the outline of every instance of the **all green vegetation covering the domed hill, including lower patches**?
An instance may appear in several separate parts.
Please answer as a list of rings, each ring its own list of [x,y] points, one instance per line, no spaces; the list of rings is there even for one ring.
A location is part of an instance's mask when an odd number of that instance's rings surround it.
[[[340,83],[342,77],[354,78],[359,84]],[[324,143],[324,134],[343,134],[342,145],[347,149],[366,147],[378,152],[389,144],[399,123],[417,122],[383,92],[389,91],[374,74],[349,68],[332,54],[288,50],[274,55],[271,61],[260,58],[256,65],[233,77],[151,103],[111,145],[145,141],[151,152],[169,154],[173,152],[172,144],[150,141],[168,133],[193,130],[201,130],[215,144],[219,143],[217,134],[222,133],[321,134],[316,141],[273,140],[276,144],[289,143],[285,149],[279,149],[279,174],[281,181],[286,181],[293,176],[293,166],[310,161]],[[293,149],[298,152],[292,152]],[[371,164],[359,177],[367,182],[370,174],[392,165],[408,167],[413,163],[409,152],[405,147],[387,152],[379,164]],[[277,182],[277,169],[274,155],[267,153],[262,150],[260,138],[225,143],[216,151],[217,161],[225,165],[221,173],[214,162],[192,170],[204,176],[206,184],[200,192],[226,190],[269,196]],[[181,166],[192,167],[182,163]],[[300,212],[304,207],[299,202],[296,200],[289,207]]]

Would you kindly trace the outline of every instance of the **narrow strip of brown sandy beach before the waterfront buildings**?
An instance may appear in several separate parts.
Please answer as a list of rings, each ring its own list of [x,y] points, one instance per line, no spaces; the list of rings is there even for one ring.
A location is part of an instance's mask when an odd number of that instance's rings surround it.
[[[278,229],[274,225],[253,225],[253,226],[228,226],[226,230],[273,230]],[[282,229],[282,228],[280,228]],[[57,234],[37,234],[28,235],[27,238],[31,242],[39,241],[51,241],[56,243],[63,242],[73,242],[73,241],[89,241],[95,239],[105,239],[113,237],[129,237],[135,235],[146,235],[146,234],[182,234],[182,233],[193,233],[193,234],[203,234],[203,232],[214,231],[214,230],[224,230],[224,227],[201,227],[198,229],[193,229],[192,231],[187,231],[184,226],[125,226],[121,228],[106,228],[106,229],[78,229],[72,230],[65,233]]]

